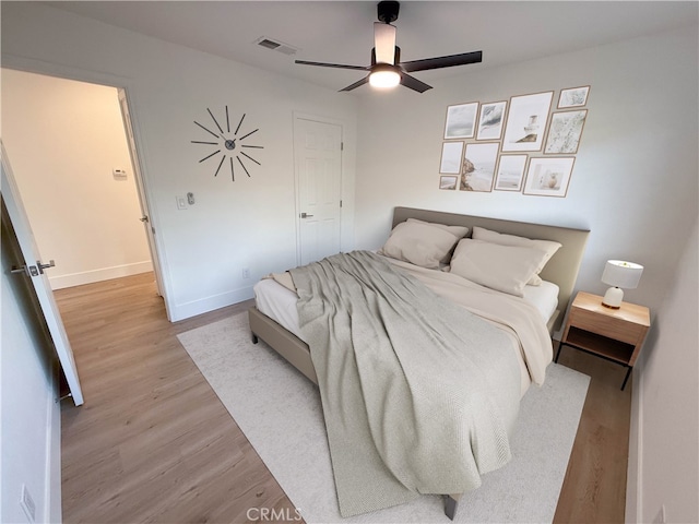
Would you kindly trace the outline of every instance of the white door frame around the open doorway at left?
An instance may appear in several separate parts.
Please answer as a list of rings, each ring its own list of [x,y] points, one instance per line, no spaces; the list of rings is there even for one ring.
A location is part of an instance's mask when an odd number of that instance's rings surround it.
[[[158,217],[157,207],[155,205],[155,199],[153,199],[152,196],[153,192],[149,187],[147,167],[145,166],[143,155],[139,154],[139,152],[145,151],[145,147],[143,146],[143,141],[141,139],[142,133],[140,131],[141,128],[139,126],[137,110],[138,97],[134,94],[135,90],[133,81],[111,73],[88,71],[69,66],[45,62],[43,60],[35,60],[5,53],[2,55],[2,63],[0,66],[5,69],[14,69],[27,73],[36,73],[46,76],[56,76],[59,79],[75,80],[78,82],[105,85],[108,87],[114,87],[117,91],[123,90],[129,106],[129,117],[131,121],[131,131],[133,134],[133,147],[135,148],[135,155],[133,155],[134,151],[132,150],[131,141],[129,140],[129,136],[126,135],[127,143],[129,143],[129,154],[131,155],[132,164],[135,162],[139,163],[139,169],[134,169],[133,174],[137,181],[137,187],[140,188],[140,190],[138,191],[139,201],[141,203],[141,209],[147,212],[151,227],[153,227],[157,231],[161,221]],[[170,311],[174,311],[175,308],[170,299],[170,296],[173,294],[170,293],[171,286],[169,282],[167,258],[165,255],[165,249],[161,245],[162,236],[146,235],[146,238],[151,252],[155,253],[152,262],[154,273],[156,274],[158,293],[163,297],[167,319],[171,322],[173,319]]]

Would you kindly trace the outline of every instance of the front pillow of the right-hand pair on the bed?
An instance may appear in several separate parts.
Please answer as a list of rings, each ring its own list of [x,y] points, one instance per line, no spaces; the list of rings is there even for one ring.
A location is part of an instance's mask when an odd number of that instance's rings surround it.
[[[451,258],[451,273],[482,286],[523,296],[546,252],[535,247],[501,246],[464,238]]]

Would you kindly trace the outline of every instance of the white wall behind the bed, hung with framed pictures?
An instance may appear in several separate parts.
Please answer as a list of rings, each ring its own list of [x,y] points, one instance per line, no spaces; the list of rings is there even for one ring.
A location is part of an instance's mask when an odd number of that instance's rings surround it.
[[[487,58],[487,57],[486,57]],[[380,246],[395,205],[590,229],[578,288],[603,294],[604,262],[643,264],[629,301],[660,306],[697,216],[697,26],[362,99],[357,247]],[[591,85],[565,199],[438,190],[447,106]],[[382,226],[377,228],[377,223]]]

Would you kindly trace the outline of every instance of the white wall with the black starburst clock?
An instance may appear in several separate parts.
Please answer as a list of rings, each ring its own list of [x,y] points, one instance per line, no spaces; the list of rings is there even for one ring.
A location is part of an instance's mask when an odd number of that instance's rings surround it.
[[[296,263],[294,111],[343,122],[342,246],[352,246],[355,97],[29,2],[2,5],[2,60],[127,87],[173,320],[250,298],[259,277]],[[214,178],[190,143],[201,140],[193,121],[226,105],[264,146],[262,166],[236,182]],[[178,211],[187,192],[197,203]]]

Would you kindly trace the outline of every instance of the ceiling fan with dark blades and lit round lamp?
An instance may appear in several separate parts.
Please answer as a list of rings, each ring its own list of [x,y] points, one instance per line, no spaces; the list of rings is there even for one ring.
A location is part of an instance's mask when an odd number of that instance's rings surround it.
[[[483,59],[482,51],[463,52],[461,55],[449,55],[446,57],[426,58],[401,62],[401,48],[395,45],[395,26],[391,22],[398,20],[400,3],[396,1],[383,0],[378,4],[379,22],[374,23],[374,49],[371,49],[371,66],[345,66],[342,63],[309,62],[296,60],[296,63],[305,66],[319,66],[321,68],[356,69],[369,71],[364,79],[355,82],[340,91],[352,91],[367,82],[375,87],[394,87],[402,84],[418,93],[431,90],[430,85],[420,82],[407,73],[414,71],[426,71],[429,69],[452,68],[454,66],[465,66],[478,63]]]

